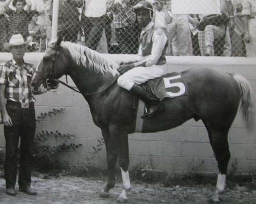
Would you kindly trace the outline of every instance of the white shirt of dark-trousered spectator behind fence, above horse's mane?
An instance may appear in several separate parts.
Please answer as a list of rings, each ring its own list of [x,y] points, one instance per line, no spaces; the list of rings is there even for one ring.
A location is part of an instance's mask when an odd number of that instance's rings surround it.
[[[107,0],[85,0],[86,17],[102,17],[107,13]]]

